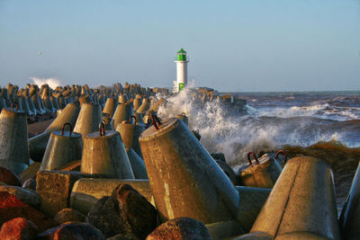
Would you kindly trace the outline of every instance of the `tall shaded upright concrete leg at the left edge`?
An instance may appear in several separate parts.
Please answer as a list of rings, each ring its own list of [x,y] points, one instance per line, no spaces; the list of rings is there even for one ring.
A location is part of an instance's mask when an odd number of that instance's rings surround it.
[[[29,164],[27,117],[24,111],[3,109],[0,113],[0,166],[14,173]],[[19,168],[19,169],[17,169]]]

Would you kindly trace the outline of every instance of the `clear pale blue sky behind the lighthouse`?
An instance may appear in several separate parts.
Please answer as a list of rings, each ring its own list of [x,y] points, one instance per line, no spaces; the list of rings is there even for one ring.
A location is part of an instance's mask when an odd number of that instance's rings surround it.
[[[359,0],[0,0],[0,85],[360,90]]]

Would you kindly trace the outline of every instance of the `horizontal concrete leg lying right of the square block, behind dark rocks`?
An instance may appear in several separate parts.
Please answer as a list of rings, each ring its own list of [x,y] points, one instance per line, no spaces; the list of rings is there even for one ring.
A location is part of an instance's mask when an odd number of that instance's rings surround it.
[[[139,191],[141,195],[151,202],[152,193],[148,180],[83,178],[74,184],[70,197],[70,207],[87,214],[98,200],[111,196],[112,191],[120,184],[130,184],[131,187]]]

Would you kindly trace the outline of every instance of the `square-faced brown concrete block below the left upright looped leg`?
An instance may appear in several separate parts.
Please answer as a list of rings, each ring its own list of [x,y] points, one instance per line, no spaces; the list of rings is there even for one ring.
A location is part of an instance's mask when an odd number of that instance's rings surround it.
[[[80,173],[60,171],[39,171],[36,191],[41,196],[40,209],[51,217],[68,207],[68,200],[74,183]]]

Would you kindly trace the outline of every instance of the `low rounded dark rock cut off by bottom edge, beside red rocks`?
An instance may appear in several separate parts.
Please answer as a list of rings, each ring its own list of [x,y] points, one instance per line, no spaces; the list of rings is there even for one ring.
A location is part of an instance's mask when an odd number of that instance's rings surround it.
[[[69,222],[53,227],[38,236],[40,240],[105,240],[102,232],[87,223]]]

